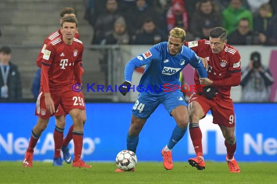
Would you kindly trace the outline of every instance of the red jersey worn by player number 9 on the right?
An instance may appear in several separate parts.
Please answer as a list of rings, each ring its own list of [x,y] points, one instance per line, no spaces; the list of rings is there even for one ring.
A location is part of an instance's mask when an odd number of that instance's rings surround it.
[[[219,54],[214,54],[208,40],[185,42],[185,45],[190,47],[199,57],[208,60],[208,78],[213,81],[213,86],[218,89],[220,94],[229,98],[231,86],[237,85],[237,80],[240,81],[241,55],[239,51],[233,46],[225,45]],[[232,78],[233,75],[235,78]],[[196,85],[200,84],[196,70],[194,82]]]

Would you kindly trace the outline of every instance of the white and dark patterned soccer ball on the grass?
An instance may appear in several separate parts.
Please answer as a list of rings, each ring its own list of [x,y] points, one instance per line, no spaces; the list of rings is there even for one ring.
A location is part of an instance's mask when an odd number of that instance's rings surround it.
[[[137,155],[130,150],[122,150],[116,155],[116,165],[121,170],[131,170],[137,166],[137,163]]]

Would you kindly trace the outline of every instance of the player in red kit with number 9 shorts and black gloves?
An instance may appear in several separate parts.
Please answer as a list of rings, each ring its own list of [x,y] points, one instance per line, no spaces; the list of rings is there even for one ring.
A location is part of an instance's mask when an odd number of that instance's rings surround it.
[[[208,61],[208,78],[194,75],[196,85],[205,85],[203,91],[190,96],[190,138],[196,153],[189,163],[198,170],[205,169],[202,150],[202,133],[199,120],[211,111],[213,123],[218,124],[225,138],[227,150],[226,162],[230,172],[241,172],[234,153],[236,151],[235,114],[233,101],[230,98],[232,86],[241,82],[241,56],[238,50],[227,45],[226,31],[222,27],[215,27],[209,31],[209,40],[185,42],[199,57]]]

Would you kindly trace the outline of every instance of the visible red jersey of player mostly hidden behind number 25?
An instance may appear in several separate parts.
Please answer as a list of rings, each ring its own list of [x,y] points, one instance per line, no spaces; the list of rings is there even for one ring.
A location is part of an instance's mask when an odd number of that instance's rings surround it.
[[[36,66],[41,68],[41,60],[43,57],[43,54],[45,52],[45,47],[46,45],[51,42],[52,40],[57,39],[58,37],[62,36],[61,30],[59,29],[58,31],[53,32],[52,34],[50,34],[43,42],[43,46],[41,47],[41,50],[36,58]],[[76,32],[76,34],[74,35],[75,38],[77,38],[78,40],[80,40],[80,34],[78,32]]]

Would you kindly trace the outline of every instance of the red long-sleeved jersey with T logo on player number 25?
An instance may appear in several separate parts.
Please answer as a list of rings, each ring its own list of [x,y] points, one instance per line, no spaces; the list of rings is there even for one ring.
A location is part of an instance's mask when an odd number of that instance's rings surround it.
[[[82,61],[83,50],[83,43],[76,38],[71,46],[66,45],[62,37],[47,44],[41,61],[43,92],[61,92],[71,89],[75,81],[80,82],[79,62]]]

